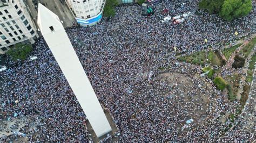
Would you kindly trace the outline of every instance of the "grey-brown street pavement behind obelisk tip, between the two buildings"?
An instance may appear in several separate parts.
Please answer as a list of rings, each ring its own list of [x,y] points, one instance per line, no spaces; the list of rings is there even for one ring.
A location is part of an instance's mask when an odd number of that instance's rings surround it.
[[[43,4],[44,6],[46,6],[46,8],[54,12],[59,17],[59,19],[63,21],[64,28],[77,25],[75,17],[73,16],[71,10],[69,9],[68,5],[64,0],[26,0],[24,2],[27,5],[27,8],[36,26],[37,8],[35,7],[38,6],[38,3]]]

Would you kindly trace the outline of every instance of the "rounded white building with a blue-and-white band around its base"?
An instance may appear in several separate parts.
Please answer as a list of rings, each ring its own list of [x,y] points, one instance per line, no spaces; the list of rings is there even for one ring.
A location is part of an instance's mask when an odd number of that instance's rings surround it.
[[[81,26],[91,26],[100,21],[105,0],[67,0],[77,23]]]

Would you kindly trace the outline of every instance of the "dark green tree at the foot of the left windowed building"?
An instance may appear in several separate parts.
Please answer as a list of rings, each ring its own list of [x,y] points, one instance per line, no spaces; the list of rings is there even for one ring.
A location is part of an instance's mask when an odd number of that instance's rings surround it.
[[[12,60],[17,61],[18,59],[20,60],[25,60],[29,53],[32,51],[32,46],[31,44],[16,44],[13,48],[11,48],[8,52],[6,52],[7,55],[9,55]]]

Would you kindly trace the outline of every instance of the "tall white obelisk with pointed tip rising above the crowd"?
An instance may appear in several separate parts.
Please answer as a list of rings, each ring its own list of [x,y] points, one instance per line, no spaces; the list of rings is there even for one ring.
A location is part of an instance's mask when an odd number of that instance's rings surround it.
[[[110,132],[109,121],[58,16],[39,3],[37,23],[97,137]]]

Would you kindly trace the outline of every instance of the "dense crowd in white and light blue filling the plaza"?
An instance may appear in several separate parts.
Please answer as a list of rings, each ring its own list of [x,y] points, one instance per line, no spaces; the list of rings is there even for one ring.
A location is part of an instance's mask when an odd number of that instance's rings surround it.
[[[162,4],[170,9],[172,16],[188,11],[193,15],[179,25],[161,23],[164,16],[159,6]],[[219,120],[240,103],[228,101],[227,95],[217,90],[211,80],[197,78],[201,67],[179,62],[175,54],[190,54],[210,46],[221,49],[227,43],[233,44],[255,32],[250,21],[255,13],[225,22],[198,10],[195,3],[175,10],[171,2],[162,4],[154,5],[156,13],[151,17],[140,15],[138,5],[122,6],[116,8],[114,18],[103,19],[98,25],[66,30],[99,102],[112,115],[120,133],[118,138],[122,141],[217,141],[220,138],[221,141],[252,141],[253,133],[246,131],[232,131],[242,138],[225,134],[229,132],[226,128],[234,123],[223,124]],[[234,35],[235,31],[238,36]],[[173,47],[177,47],[177,52]],[[15,118],[26,119],[20,132],[26,133],[29,141],[92,140],[86,128],[86,116],[43,38],[36,42],[34,54],[37,60],[0,73],[3,115],[14,118],[18,113]],[[153,76],[149,82],[150,71]],[[163,81],[159,77],[162,73],[178,74]],[[178,75],[190,82],[180,81]],[[193,125],[181,130],[190,118],[195,120]],[[0,141],[11,138],[3,137]]]

